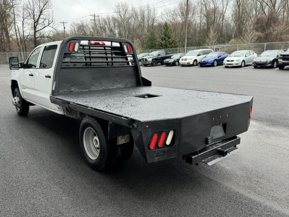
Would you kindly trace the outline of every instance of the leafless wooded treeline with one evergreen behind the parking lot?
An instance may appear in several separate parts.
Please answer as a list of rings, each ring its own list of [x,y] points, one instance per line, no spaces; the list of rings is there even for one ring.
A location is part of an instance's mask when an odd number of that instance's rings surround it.
[[[184,47],[187,16],[187,47],[289,41],[289,0],[189,0],[187,13],[187,0],[159,5],[117,3],[98,17],[98,36],[127,38],[137,49]],[[0,52],[30,52],[64,38],[51,0],[0,0],[0,20]],[[94,36],[90,18],[68,24],[66,36]]]

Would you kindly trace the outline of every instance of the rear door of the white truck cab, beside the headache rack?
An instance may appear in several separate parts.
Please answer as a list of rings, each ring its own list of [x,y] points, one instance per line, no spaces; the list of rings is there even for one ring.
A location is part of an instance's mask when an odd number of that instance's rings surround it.
[[[47,45],[43,48],[39,68],[34,75],[35,102],[47,108],[55,109],[50,102],[52,89],[53,69],[55,67],[57,44]]]

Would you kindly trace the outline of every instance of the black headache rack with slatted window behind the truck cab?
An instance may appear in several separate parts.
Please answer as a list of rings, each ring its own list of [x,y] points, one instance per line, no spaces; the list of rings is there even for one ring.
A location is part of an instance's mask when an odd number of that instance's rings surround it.
[[[151,82],[142,78],[136,50],[129,40],[72,36],[60,45],[52,96],[144,84],[150,86]]]

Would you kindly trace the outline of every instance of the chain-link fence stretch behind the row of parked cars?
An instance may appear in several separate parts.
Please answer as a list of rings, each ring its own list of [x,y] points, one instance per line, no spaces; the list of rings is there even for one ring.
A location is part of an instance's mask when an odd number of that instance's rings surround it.
[[[256,44],[224,44],[214,46],[202,46],[202,47],[188,47],[189,50],[197,49],[212,49],[213,51],[222,51],[226,53],[232,53],[236,50],[252,50],[257,54],[261,54],[266,50],[284,50],[289,48],[289,42],[272,42],[272,43],[256,43]],[[163,50],[166,53],[185,53],[185,48],[169,48],[169,49],[156,49]],[[154,50],[137,50],[137,54],[151,53]]]

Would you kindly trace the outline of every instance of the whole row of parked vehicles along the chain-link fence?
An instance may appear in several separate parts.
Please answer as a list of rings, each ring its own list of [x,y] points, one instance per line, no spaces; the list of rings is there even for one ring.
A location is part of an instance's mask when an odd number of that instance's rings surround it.
[[[287,50],[267,50],[257,55],[252,50],[238,50],[231,54],[225,52],[213,52],[212,49],[191,50],[187,53],[168,53],[163,50],[138,55],[140,65],[156,66],[158,63],[166,66],[217,66],[223,64],[225,68],[230,66],[244,67],[252,64],[254,68],[279,66],[283,69],[289,65],[289,48]]]

